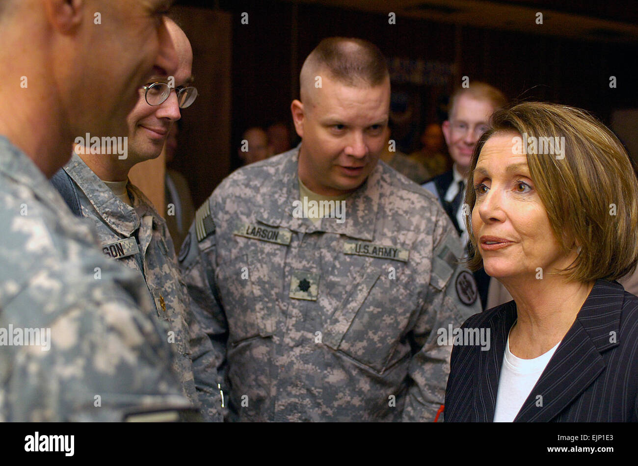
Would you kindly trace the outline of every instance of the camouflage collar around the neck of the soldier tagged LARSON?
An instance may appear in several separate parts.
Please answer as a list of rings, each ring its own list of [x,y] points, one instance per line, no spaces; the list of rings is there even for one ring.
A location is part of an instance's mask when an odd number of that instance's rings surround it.
[[[294,209],[292,203],[299,200],[297,170],[300,148],[301,144],[286,152],[278,173],[267,182],[267,189],[263,192],[269,193],[268,199],[265,208],[257,214],[256,218],[267,225],[280,226],[292,231],[303,233],[323,231],[361,240],[373,240],[381,187],[380,164],[377,164],[366,182],[345,200],[343,223],[338,223],[334,218],[324,218],[321,222],[314,224],[310,219],[298,219],[292,215]]]

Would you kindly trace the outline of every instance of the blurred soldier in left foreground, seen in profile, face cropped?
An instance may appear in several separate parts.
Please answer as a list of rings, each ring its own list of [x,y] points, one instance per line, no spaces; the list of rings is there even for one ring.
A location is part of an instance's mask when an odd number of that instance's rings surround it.
[[[47,180],[76,136],[126,134],[153,67],[174,72],[166,6],[0,3],[0,421],[192,411],[144,282],[103,257]]]

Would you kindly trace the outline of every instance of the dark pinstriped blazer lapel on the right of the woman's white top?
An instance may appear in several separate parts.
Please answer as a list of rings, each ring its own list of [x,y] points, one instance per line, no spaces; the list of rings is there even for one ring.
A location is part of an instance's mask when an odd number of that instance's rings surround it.
[[[596,282],[514,422],[551,421],[603,372],[600,354],[618,346],[611,335],[619,333],[623,292],[616,282]]]

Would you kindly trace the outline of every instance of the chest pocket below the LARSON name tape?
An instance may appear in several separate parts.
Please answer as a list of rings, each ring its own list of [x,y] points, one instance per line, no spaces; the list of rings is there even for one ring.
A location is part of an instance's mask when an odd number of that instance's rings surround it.
[[[269,290],[272,277],[268,261],[244,254],[218,267],[219,297],[228,322],[228,341],[238,344],[274,333],[276,301]]]

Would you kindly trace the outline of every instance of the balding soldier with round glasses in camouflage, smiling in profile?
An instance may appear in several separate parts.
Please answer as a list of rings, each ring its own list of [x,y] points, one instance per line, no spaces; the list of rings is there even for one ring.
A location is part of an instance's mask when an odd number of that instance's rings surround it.
[[[197,98],[197,89],[191,86],[191,45],[175,22],[168,20],[167,28],[179,65],[174,76],[155,75],[140,87],[137,103],[126,117],[126,153],[106,150],[97,140],[76,144],[71,160],[52,182],[76,215],[94,221],[103,254],[144,277],[174,349],[174,369],[182,390],[202,407],[205,420],[215,421],[221,420],[221,397],[209,354],[212,344],[191,317],[165,220],[128,180],[135,164],[161,154],[171,125],[181,118],[180,108]]]

